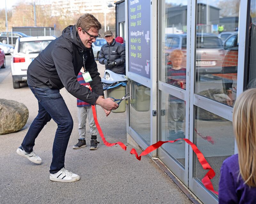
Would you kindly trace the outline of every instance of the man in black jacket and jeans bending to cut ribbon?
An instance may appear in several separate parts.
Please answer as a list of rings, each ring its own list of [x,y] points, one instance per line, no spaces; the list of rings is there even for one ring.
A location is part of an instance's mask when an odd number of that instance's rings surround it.
[[[73,182],[80,179],[66,170],[64,165],[73,119],[60,95],[60,89],[65,87],[76,98],[100,105],[106,115],[118,107],[111,98],[104,99],[100,74],[93,56],[92,43],[100,37],[100,29],[101,24],[93,15],[84,14],[76,25],[65,28],[62,35],[53,40],[28,66],[28,86],[38,100],[38,115],[16,152],[31,162],[41,164],[42,159],[35,154],[33,147],[44,125],[53,119],[58,128],[52,148],[52,181]],[[93,92],[76,80],[82,66],[85,68],[85,81],[92,80],[90,86]]]

